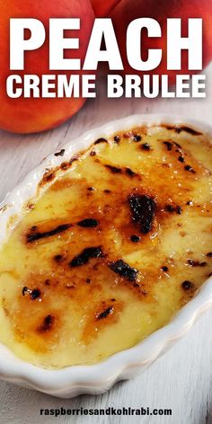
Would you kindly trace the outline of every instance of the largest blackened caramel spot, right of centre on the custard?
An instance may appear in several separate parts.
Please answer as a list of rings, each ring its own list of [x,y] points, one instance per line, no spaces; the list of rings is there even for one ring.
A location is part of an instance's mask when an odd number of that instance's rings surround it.
[[[152,229],[155,218],[155,200],[146,194],[141,196],[131,194],[128,197],[128,202],[132,214],[132,219],[140,226],[141,233],[149,233],[149,231]]]

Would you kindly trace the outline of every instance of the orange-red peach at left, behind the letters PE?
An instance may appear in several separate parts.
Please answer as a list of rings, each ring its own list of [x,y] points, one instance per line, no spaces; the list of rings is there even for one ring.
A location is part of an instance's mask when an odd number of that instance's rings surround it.
[[[0,70],[0,128],[18,132],[39,132],[57,127],[74,115],[85,100],[79,99],[11,99],[5,90],[5,81],[8,75],[24,74],[39,75],[64,73],[69,71],[49,71],[49,18],[80,18],[81,31],[71,31],[72,37],[79,37],[80,49],[72,50],[71,57],[80,57],[84,60],[88,41],[93,28],[93,8],[90,0],[54,0],[43,3],[41,0],[0,0],[0,38],[1,42],[1,70]],[[9,20],[10,18],[36,18],[46,29],[46,40],[40,49],[25,53],[24,71],[10,71],[9,64]],[[26,34],[26,37],[28,34]],[[65,57],[70,57],[68,51]],[[78,73],[78,71],[77,71]]]

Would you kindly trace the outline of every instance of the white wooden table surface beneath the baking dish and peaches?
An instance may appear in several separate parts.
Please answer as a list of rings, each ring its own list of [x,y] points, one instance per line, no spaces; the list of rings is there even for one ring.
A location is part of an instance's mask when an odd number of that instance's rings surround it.
[[[106,99],[102,85],[97,99],[63,126],[38,135],[22,136],[0,132],[0,199],[22,180],[41,159],[67,140],[111,119],[133,113],[181,113],[183,116],[212,121],[212,65],[208,66],[206,99]],[[196,322],[189,334],[169,353],[136,379],[116,384],[101,396],[79,396],[73,400],[57,398],[0,382],[0,423],[76,424],[133,422],[163,424],[212,423],[212,311]],[[172,417],[40,417],[40,408],[171,408]]]

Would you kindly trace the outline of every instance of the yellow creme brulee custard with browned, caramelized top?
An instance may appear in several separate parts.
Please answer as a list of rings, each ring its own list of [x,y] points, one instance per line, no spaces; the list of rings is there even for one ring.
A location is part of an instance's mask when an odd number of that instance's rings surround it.
[[[1,342],[61,368],[163,327],[212,272],[211,172],[209,138],[165,125],[46,172],[0,253]]]

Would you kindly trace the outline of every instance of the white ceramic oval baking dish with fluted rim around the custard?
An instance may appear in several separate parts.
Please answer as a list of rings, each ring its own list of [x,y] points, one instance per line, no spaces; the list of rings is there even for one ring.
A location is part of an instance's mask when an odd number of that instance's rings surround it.
[[[14,215],[19,219],[22,217],[24,203],[35,196],[38,184],[47,170],[70,160],[75,153],[90,146],[97,138],[109,137],[120,129],[139,125],[151,127],[153,124],[162,122],[198,128],[201,132],[212,136],[212,128],[196,120],[180,116],[133,115],[112,121],[100,128],[90,130],[75,140],[70,140],[63,146],[65,149],[63,156],[53,154],[45,158],[1,203],[0,244],[4,243],[12,230],[10,225],[8,228],[10,217]],[[148,367],[156,358],[170,349],[210,305],[212,305],[212,278],[208,279],[199,294],[185,305],[168,325],[155,331],[135,347],[116,353],[92,366],[66,367],[60,370],[43,369],[16,358],[13,352],[0,345],[0,378],[61,398],[74,397],[80,393],[103,393],[117,381],[137,375],[139,371]]]

